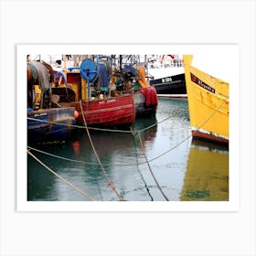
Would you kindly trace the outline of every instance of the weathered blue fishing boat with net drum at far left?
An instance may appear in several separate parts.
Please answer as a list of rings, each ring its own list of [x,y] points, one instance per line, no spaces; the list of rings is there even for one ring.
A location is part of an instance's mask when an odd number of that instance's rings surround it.
[[[27,62],[27,144],[65,142],[76,123],[75,108],[52,108],[58,104],[51,92],[52,75],[46,63]]]

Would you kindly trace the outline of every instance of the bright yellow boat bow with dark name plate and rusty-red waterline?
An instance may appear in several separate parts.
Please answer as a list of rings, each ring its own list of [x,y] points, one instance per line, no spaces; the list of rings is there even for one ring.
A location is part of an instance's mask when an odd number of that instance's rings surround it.
[[[229,144],[229,83],[192,67],[192,55],[183,59],[192,136]]]

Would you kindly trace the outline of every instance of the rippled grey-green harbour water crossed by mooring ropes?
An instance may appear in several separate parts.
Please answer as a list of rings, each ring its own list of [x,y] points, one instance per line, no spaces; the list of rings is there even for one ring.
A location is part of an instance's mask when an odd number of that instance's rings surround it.
[[[130,201],[165,200],[151,169],[171,201],[229,200],[228,149],[192,140],[187,99],[158,101],[156,115],[137,119],[133,133],[90,130],[91,140],[116,191]],[[118,200],[98,165],[85,129],[66,144],[37,145],[30,152],[95,200]],[[88,198],[27,155],[27,200]]]

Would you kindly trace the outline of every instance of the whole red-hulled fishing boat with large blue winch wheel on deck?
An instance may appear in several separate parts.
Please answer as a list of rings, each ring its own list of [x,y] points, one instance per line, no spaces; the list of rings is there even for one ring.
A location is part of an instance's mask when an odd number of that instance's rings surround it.
[[[55,73],[52,92],[58,104],[74,107],[79,112],[79,125],[100,128],[127,128],[135,120],[133,96],[129,93],[112,96],[108,92],[111,76],[106,61],[83,59],[80,67]]]

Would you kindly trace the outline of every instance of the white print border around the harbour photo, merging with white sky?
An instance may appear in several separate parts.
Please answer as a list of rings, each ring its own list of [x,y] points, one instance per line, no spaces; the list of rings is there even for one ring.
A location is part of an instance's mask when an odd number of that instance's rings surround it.
[[[17,210],[18,211],[238,211],[239,210],[239,54],[238,45],[17,45]],[[227,202],[27,202],[27,54],[193,54],[192,65],[229,81],[229,201]],[[202,54],[203,52],[203,54]],[[230,59],[219,62],[218,56]],[[224,70],[224,72],[223,72]]]

